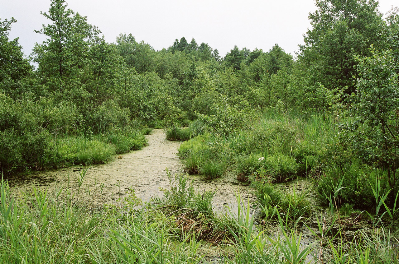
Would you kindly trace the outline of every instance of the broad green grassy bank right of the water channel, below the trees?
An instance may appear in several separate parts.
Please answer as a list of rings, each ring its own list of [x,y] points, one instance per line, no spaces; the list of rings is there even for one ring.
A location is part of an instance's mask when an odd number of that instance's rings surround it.
[[[387,207],[396,207],[399,185],[394,176],[381,162],[361,159],[356,141],[340,128],[347,121],[269,111],[251,129],[229,127],[221,133],[205,127],[180,145],[178,155],[186,172],[204,179],[233,172],[237,180],[257,188],[259,201],[270,196],[269,186],[306,177],[324,205],[336,197],[338,207],[375,211],[377,195]]]

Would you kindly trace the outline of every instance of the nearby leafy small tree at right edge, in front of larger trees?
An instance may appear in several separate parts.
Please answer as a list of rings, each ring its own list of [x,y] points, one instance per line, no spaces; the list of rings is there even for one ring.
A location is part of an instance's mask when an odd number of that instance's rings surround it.
[[[355,119],[342,124],[341,129],[363,162],[387,171],[393,188],[399,168],[398,73],[391,51],[371,47],[370,53],[371,57],[358,57],[360,78],[349,113]]]

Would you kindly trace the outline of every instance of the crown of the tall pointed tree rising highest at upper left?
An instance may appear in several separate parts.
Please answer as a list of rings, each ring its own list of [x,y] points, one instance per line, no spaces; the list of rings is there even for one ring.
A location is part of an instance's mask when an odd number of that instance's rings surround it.
[[[99,30],[87,23],[87,18],[67,8],[64,0],[51,0],[48,13],[41,13],[51,21],[36,31],[47,39],[36,44],[33,55],[38,63],[42,82],[61,93],[66,86],[78,81],[85,65],[89,47],[99,40]]]

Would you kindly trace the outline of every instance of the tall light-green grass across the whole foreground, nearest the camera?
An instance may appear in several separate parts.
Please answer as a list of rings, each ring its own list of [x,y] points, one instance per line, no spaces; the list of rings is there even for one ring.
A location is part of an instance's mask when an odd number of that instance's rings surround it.
[[[272,207],[267,224],[257,224],[247,201],[238,213],[217,215],[212,192],[198,193],[183,175],[170,176],[164,196],[143,203],[134,191],[119,206],[93,210],[73,194],[61,198],[33,188],[10,195],[1,182],[0,260],[2,263],[398,263],[388,229],[373,227],[331,235],[286,221]],[[261,206],[261,205],[259,205]],[[267,213],[264,207],[260,207]],[[334,218],[337,221],[337,218]],[[305,224],[301,224],[305,223]],[[306,234],[306,235],[305,235]]]

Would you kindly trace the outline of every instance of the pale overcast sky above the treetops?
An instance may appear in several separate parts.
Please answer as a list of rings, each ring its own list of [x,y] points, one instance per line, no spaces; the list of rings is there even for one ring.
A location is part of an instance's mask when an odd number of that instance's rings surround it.
[[[136,41],[144,40],[156,50],[171,46],[186,37],[190,42],[208,43],[224,56],[237,45],[268,51],[275,43],[294,55],[303,34],[310,27],[309,12],[314,0],[67,0],[68,8],[87,16],[108,42],[119,33],[132,33]],[[397,5],[380,0],[384,14]],[[40,11],[49,10],[50,0],[0,0],[0,18],[14,17],[10,39],[19,37],[26,55],[34,43],[45,40],[34,32],[49,23]]]

